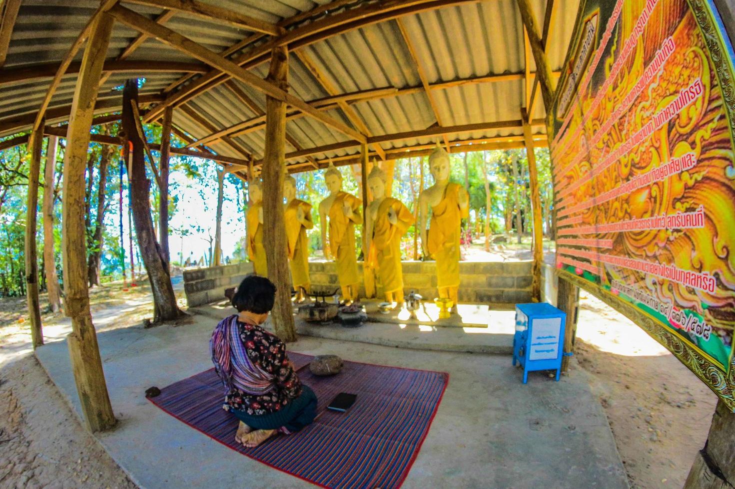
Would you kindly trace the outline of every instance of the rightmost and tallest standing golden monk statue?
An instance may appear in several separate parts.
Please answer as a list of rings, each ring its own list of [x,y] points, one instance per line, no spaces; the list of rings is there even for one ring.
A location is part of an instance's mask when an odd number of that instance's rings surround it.
[[[423,256],[437,261],[439,297],[451,299],[456,312],[459,290],[459,235],[462,217],[469,217],[470,195],[459,184],[449,181],[449,153],[437,147],[429,156],[429,171],[434,185],[418,197],[419,230]],[[429,236],[426,218],[431,207]]]

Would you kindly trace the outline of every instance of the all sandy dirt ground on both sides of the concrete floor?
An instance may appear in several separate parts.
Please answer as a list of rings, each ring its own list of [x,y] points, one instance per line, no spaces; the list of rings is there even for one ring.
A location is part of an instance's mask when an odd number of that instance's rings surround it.
[[[98,330],[151,316],[148,286],[92,292]],[[182,295],[181,286],[176,287]],[[184,303],[180,299],[180,303]],[[42,307],[45,305],[43,297]],[[576,357],[612,426],[633,488],[681,488],[716,397],[639,327],[582,294]],[[99,319],[97,319],[99,318]],[[51,341],[68,319],[46,314]],[[0,300],[0,488],[134,488],[79,424],[32,355],[25,300]]]

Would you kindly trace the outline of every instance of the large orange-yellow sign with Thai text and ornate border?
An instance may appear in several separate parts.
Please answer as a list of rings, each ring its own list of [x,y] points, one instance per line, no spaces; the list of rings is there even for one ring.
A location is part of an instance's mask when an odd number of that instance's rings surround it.
[[[706,0],[590,0],[556,91],[556,264],[735,409],[735,85]]]

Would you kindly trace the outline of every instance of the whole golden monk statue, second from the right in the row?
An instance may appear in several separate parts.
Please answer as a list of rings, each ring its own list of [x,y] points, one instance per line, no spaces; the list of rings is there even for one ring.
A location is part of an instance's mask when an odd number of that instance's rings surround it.
[[[379,167],[373,167],[368,176],[368,188],[373,201],[368,206],[365,220],[365,249],[370,268],[378,269],[387,303],[399,308],[404,302],[404,274],[401,268],[401,237],[414,217],[400,200],[385,195],[386,176]]]

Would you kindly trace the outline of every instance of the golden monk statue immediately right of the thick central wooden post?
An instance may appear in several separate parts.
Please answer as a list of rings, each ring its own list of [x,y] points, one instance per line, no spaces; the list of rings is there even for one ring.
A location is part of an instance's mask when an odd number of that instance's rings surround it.
[[[291,282],[296,290],[296,301],[303,302],[306,299],[304,290],[309,291],[312,285],[309,280],[309,240],[306,239],[306,230],[314,227],[312,205],[296,198],[296,180],[292,176],[284,178],[283,195],[286,198],[283,217]]]

